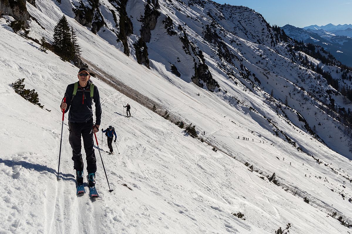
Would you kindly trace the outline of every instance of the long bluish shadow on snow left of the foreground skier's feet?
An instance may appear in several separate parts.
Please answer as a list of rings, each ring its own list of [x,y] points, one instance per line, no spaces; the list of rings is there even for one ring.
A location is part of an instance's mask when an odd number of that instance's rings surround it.
[[[8,167],[22,166],[27,169],[34,169],[37,172],[49,172],[57,176],[57,171],[55,169],[44,165],[40,165],[40,164],[35,164],[35,163],[30,163],[25,161],[13,161],[8,159],[1,159],[1,158],[0,158],[0,163],[4,163]],[[75,176],[72,174],[59,173],[59,175],[61,175],[62,180],[71,180],[76,182]]]

